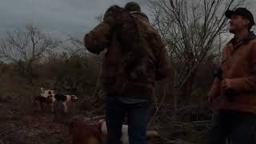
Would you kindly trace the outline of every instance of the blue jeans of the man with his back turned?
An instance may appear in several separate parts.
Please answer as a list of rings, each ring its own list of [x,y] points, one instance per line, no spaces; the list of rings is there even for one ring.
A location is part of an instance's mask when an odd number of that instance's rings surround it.
[[[146,142],[146,128],[150,116],[150,102],[122,102],[118,98],[106,98],[107,144],[121,144],[122,124],[128,117],[128,135],[130,144]]]

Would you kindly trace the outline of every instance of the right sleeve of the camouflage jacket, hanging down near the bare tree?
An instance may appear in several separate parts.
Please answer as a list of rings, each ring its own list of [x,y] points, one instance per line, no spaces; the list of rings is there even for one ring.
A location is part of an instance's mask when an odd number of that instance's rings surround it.
[[[170,75],[170,61],[168,59],[166,46],[162,42],[160,35],[156,34],[156,38],[152,41],[157,41],[158,50],[156,52],[155,80],[161,81]]]

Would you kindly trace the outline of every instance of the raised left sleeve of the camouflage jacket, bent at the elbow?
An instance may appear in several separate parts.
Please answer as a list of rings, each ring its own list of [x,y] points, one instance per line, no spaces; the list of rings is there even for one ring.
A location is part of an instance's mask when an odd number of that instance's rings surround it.
[[[111,26],[107,22],[102,22],[91,30],[84,37],[84,45],[91,53],[99,54],[108,46],[110,41]]]

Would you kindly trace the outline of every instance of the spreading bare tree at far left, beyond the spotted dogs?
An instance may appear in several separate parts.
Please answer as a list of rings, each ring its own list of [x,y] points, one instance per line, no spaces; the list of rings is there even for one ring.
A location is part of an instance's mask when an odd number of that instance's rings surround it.
[[[25,31],[14,30],[0,40],[0,55],[18,66],[20,74],[32,82],[33,65],[58,46],[58,41],[47,37],[36,26],[26,26]]]

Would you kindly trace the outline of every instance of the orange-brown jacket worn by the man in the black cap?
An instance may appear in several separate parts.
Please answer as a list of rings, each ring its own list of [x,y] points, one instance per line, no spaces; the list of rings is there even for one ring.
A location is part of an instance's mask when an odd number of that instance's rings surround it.
[[[214,79],[208,96],[214,97],[218,109],[238,110],[256,114],[256,36],[250,32],[241,42],[231,39],[222,52],[223,78],[230,78],[236,93],[233,101],[219,97],[224,94],[221,82]]]

